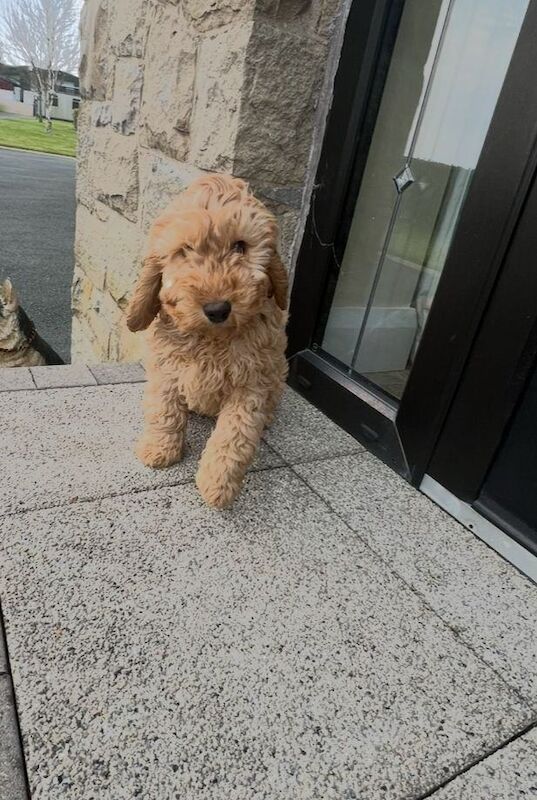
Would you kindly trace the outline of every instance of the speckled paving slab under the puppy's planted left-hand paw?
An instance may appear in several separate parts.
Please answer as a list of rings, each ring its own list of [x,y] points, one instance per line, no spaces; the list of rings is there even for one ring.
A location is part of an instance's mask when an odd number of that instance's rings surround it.
[[[0,419],[9,425],[2,430],[0,513],[192,479],[212,421],[192,418],[180,464],[145,467],[133,452],[142,392],[138,383],[1,394]],[[253,468],[280,463],[263,444]]]

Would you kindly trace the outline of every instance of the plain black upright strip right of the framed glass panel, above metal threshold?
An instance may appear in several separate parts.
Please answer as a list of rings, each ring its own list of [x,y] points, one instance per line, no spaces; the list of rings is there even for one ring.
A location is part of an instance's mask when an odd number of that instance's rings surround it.
[[[428,474],[461,500],[478,498],[536,359],[534,180],[429,463]]]

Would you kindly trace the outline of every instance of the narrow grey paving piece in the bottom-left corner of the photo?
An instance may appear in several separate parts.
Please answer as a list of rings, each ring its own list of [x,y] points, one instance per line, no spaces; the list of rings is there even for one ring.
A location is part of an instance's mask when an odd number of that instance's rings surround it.
[[[9,675],[0,675],[0,797],[28,800]]]

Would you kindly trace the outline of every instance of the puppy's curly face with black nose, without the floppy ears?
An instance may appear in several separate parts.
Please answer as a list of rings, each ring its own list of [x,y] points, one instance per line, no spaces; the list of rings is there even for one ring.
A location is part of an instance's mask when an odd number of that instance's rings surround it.
[[[276,224],[261,207],[230,204],[162,217],[152,233],[161,314],[182,332],[220,335],[259,315],[272,295]]]

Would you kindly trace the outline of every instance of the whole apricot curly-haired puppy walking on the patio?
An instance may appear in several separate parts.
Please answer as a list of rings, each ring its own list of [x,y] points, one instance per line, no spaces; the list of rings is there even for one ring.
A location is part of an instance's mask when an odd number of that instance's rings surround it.
[[[200,178],[154,223],[127,312],[131,331],[150,326],[137,455],[174,464],[188,412],[217,416],[196,483],[219,508],[237,496],[287,376],[276,240],[276,220],[244,181]]]

